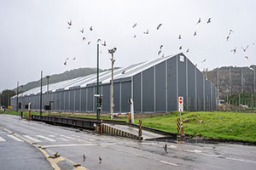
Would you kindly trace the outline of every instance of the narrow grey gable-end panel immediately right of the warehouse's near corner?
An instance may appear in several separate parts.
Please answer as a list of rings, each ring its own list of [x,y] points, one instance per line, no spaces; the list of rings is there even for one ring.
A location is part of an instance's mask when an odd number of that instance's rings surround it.
[[[141,74],[133,77],[134,111],[141,112]]]

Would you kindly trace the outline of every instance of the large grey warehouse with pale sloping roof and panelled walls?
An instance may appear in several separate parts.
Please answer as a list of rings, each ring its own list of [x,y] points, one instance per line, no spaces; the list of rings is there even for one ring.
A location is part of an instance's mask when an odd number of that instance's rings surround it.
[[[177,111],[177,98],[183,96],[185,111],[216,109],[215,87],[184,55],[152,59],[113,71],[114,112],[130,111],[128,99],[134,100],[135,112]],[[100,73],[102,112],[110,112],[111,71]],[[96,112],[96,74],[49,84],[52,111]],[[43,106],[47,86],[43,87]],[[21,94],[19,94],[21,102]],[[23,104],[32,102],[32,110],[40,109],[40,88],[23,94]],[[16,108],[16,96],[11,99]]]

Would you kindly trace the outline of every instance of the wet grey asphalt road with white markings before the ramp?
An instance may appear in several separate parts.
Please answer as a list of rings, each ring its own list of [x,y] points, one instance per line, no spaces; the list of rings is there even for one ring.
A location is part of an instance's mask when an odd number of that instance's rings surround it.
[[[60,153],[68,160],[81,163],[82,166],[90,170],[256,169],[255,146],[168,143],[168,152],[166,153],[163,149],[166,143],[163,142],[139,142],[132,139],[98,135],[44,122],[20,120],[18,116],[0,115],[0,125],[19,133],[26,139],[37,142],[47,150]],[[3,134],[0,133],[0,135]],[[17,141],[12,143],[11,140],[2,141],[0,144],[6,144],[6,146],[18,144]],[[19,147],[27,148],[27,144]],[[2,153],[8,152],[9,147],[1,147],[1,150],[0,157],[2,157]],[[26,157],[26,150],[22,150],[16,156]],[[34,152],[37,151],[34,150]],[[83,161],[83,154],[86,156],[85,161]],[[99,156],[102,157],[101,163]],[[39,159],[39,161],[41,160],[45,161],[43,157]],[[19,163],[18,160],[10,161]],[[26,163],[34,165],[32,162]],[[68,168],[63,167],[62,169]]]

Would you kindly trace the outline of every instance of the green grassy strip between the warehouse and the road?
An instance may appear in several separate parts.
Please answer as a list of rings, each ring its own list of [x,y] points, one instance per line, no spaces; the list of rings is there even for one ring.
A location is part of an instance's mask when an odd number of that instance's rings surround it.
[[[6,111],[6,114],[19,115],[15,111]],[[34,115],[39,115],[38,112],[32,112]],[[46,113],[43,113],[45,115]],[[27,113],[25,112],[26,116]],[[61,114],[50,114],[58,115]],[[73,116],[72,114],[65,116]],[[96,118],[96,116],[81,116]],[[166,116],[152,116],[145,118],[137,118],[143,121],[143,126],[154,127],[161,130],[177,133],[176,119],[179,117],[177,112],[172,112]],[[110,119],[110,116],[102,116],[103,119]],[[184,132],[190,135],[202,136],[212,139],[234,139],[256,142],[256,113],[247,112],[222,112],[222,111],[191,111],[184,112],[183,119],[189,119],[189,122],[184,122]],[[127,121],[125,117],[115,120]],[[200,123],[203,120],[203,123]]]

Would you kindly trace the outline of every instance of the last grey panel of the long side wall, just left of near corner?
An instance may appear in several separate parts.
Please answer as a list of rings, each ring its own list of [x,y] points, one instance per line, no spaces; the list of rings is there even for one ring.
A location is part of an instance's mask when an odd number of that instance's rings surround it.
[[[131,99],[131,82],[121,82],[121,112],[129,112],[130,104],[128,102]]]

